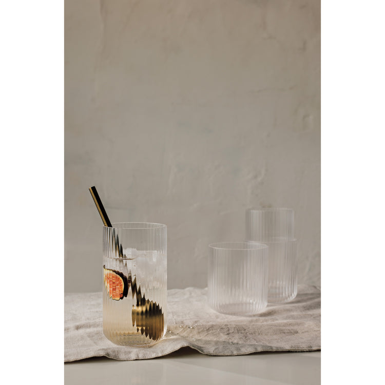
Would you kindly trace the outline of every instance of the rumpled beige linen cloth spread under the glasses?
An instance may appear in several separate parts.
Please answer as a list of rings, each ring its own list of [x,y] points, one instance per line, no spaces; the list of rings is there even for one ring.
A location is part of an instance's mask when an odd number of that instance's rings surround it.
[[[207,304],[207,288],[168,290],[167,305],[165,337],[150,348],[132,348],[104,336],[101,292],[65,294],[64,361],[98,356],[147,359],[186,346],[218,356],[321,349],[321,292],[316,286],[298,285],[293,301],[269,304],[253,317],[215,312]]]

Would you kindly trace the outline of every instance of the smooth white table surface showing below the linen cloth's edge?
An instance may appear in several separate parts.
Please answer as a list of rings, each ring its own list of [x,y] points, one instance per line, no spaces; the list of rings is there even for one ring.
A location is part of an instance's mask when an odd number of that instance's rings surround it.
[[[207,356],[183,348],[148,360],[95,357],[65,363],[64,379],[66,385],[319,385],[321,352]]]

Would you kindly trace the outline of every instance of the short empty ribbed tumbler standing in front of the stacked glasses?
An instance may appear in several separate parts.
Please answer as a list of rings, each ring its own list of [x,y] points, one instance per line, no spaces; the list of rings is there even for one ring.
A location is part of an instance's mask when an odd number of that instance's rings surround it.
[[[267,305],[267,246],[255,242],[209,245],[208,303],[219,313],[251,316]]]

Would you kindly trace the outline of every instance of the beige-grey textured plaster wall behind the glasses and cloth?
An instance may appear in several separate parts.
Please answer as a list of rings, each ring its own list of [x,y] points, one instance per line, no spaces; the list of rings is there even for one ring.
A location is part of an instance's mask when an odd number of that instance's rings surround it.
[[[100,291],[102,222],[168,225],[168,288],[206,286],[244,210],[296,212],[320,284],[319,0],[65,1],[65,291]]]

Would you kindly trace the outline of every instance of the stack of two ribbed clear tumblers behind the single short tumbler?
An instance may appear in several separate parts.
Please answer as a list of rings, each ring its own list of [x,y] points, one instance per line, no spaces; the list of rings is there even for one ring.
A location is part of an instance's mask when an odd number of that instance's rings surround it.
[[[282,303],[294,299],[297,295],[294,210],[246,210],[246,240],[262,242],[268,246],[268,302]]]

